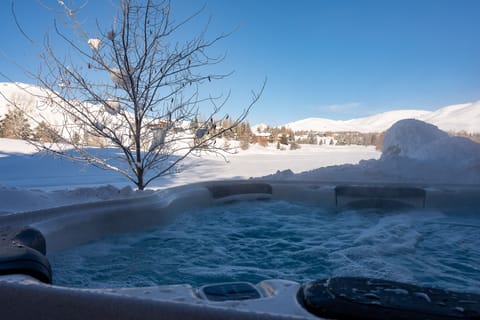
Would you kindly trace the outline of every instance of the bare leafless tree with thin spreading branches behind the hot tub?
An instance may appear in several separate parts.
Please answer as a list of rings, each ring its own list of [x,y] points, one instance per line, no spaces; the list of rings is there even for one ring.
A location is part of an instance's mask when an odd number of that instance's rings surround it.
[[[209,73],[225,58],[212,56],[210,50],[228,34],[207,40],[205,28],[180,41],[180,31],[199,12],[175,22],[169,1],[153,0],[121,0],[111,25],[105,28],[97,22],[92,34],[85,30],[77,10],[63,1],[58,4],[66,19],[54,21],[53,35],[63,41],[68,53],[54,50],[47,35],[41,44],[42,67],[32,75],[46,88],[44,103],[63,116],[61,126],[49,123],[61,143],[32,143],[114,170],[140,190],[199,150],[224,155],[227,150],[215,144],[216,138],[246,118],[265,86],[228,122],[228,115],[220,113],[228,95],[201,95],[202,85],[228,76]],[[205,104],[209,105],[206,115],[201,109]],[[194,129],[189,125],[192,121]],[[98,156],[89,148],[92,144],[121,152],[117,157]]]

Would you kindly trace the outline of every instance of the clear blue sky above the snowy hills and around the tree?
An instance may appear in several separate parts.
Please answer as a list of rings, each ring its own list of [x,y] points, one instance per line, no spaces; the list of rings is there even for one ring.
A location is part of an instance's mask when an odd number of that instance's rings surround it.
[[[40,0],[14,0],[25,31],[41,39],[52,14]],[[55,5],[56,1],[41,2]],[[68,1],[65,1],[68,3]],[[88,17],[109,21],[113,0],[90,0]],[[83,2],[82,2],[83,3]],[[394,109],[434,110],[480,100],[478,0],[180,0],[172,14],[205,5],[189,30],[211,18],[209,35],[235,30],[216,50],[235,71],[218,90],[231,91],[226,111],[267,87],[248,118],[281,125],[307,118],[350,119]],[[27,81],[6,56],[36,70],[38,52],[1,1],[0,70]],[[0,79],[5,81],[5,79]]]

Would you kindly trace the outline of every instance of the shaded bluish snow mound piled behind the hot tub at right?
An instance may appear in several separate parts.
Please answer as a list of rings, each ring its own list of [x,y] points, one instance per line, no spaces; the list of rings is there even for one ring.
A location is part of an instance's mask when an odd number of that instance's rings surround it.
[[[450,137],[431,124],[405,119],[385,134],[379,159],[337,165],[270,179],[330,182],[480,185],[480,144]]]

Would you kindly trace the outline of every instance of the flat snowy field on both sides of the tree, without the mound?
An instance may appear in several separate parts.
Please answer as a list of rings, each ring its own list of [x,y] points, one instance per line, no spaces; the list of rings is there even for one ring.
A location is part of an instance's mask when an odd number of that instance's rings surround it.
[[[105,156],[116,152],[100,151]],[[379,157],[373,147],[363,146],[304,146],[280,151],[275,146],[252,145],[249,150],[227,155],[228,162],[213,155],[190,157],[178,172],[156,180],[150,187],[155,190],[199,181],[248,179],[278,170],[301,172]],[[115,172],[37,153],[21,140],[0,139],[0,172],[0,213],[4,214],[142,194]]]

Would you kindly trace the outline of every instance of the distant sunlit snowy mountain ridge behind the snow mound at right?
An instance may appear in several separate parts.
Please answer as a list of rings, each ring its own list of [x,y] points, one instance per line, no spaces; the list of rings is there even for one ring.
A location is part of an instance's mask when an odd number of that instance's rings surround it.
[[[286,124],[294,131],[358,131],[383,132],[402,119],[417,119],[444,131],[480,132],[480,101],[447,106],[436,111],[395,110],[352,120],[307,118]]]

